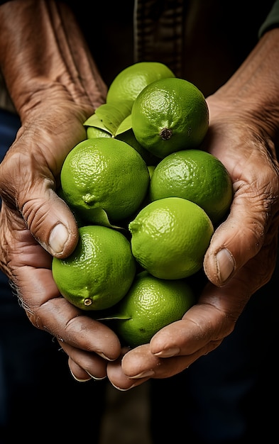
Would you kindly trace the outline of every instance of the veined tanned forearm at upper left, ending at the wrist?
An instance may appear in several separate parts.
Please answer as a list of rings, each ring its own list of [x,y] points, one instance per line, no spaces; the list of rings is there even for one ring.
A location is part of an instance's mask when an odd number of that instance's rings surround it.
[[[55,1],[16,0],[0,6],[0,66],[24,119],[43,96],[69,95],[93,112],[106,86],[75,18]]]

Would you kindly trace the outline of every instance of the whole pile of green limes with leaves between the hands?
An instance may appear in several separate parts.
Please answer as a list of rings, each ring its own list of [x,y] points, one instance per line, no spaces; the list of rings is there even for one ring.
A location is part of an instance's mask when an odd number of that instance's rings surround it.
[[[233,196],[224,165],[201,149],[208,126],[195,85],[161,63],[136,63],[116,76],[62,165],[59,193],[80,239],[72,255],[53,258],[53,278],[125,345],[147,343],[195,304],[190,278]]]

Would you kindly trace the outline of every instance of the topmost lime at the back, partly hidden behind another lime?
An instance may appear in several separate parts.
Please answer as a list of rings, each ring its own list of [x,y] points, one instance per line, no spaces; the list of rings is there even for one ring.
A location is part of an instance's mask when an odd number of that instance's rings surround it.
[[[127,101],[133,104],[136,96],[146,85],[175,74],[160,62],[138,62],[126,67],[111,82],[106,95],[107,104],[118,104]]]

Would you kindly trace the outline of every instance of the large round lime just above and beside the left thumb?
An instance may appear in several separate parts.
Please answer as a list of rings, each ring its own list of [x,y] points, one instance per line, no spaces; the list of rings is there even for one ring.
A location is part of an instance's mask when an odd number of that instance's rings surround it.
[[[127,143],[106,137],[77,144],[65,158],[60,177],[67,203],[93,223],[97,209],[113,222],[131,216],[150,184],[141,155]]]

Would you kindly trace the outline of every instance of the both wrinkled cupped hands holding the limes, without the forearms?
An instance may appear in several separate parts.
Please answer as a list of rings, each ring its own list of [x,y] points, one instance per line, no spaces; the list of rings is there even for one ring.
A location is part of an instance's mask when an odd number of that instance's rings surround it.
[[[58,338],[76,379],[107,374],[114,386],[128,389],[150,377],[177,374],[234,330],[248,299],[273,272],[279,194],[274,147],[249,116],[219,111],[214,98],[208,99],[204,149],[219,157],[234,182],[229,217],[204,258],[209,283],[182,321],[120,355],[116,335],[69,304],[53,282],[52,255],[66,257],[77,243],[75,219],[55,189],[62,162],[84,138],[82,122],[92,112],[57,98],[53,103],[23,122],[0,166],[1,268],[33,325]]]

